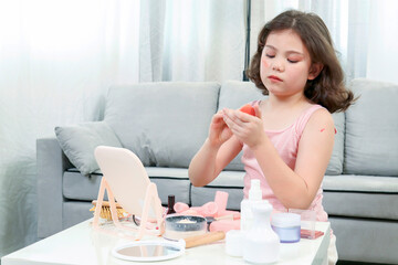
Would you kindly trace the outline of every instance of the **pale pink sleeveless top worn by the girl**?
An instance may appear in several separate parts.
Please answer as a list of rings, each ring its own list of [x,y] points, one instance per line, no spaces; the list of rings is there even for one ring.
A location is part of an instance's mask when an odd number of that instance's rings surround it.
[[[265,134],[270,138],[271,142],[274,145],[279,155],[283,161],[294,170],[295,161],[297,157],[297,149],[300,138],[304,131],[305,125],[307,124],[311,115],[323,108],[321,105],[313,105],[305,109],[296,120],[285,129],[282,130],[265,130]],[[243,156],[242,163],[244,165],[245,176],[244,176],[244,198],[248,198],[250,190],[250,182],[252,179],[260,179],[261,189],[263,192],[263,199],[268,200],[276,211],[286,211],[287,209],[276,199],[271,187],[265,180],[265,177],[251,149],[243,144]],[[323,190],[320,187],[314,201],[311,203],[308,210],[316,212],[317,221],[327,221],[327,213],[324,211],[322,205]]]

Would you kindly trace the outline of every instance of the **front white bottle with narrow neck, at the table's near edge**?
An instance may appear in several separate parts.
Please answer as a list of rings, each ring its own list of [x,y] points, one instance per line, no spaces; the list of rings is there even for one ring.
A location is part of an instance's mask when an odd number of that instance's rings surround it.
[[[270,224],[272,205],[254,204],[252,211],[254,220],[244,236],[243,259],[250,263],[274,263],[279,258],[281,243]]]

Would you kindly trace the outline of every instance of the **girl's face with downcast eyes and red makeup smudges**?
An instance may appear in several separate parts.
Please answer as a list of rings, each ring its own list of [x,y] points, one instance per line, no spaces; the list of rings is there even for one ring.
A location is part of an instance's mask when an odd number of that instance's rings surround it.
[[[312,71],[307,49],[292,30],[271,32],[261,55],[260,76],[270,95],[292,96],[304,93]]]

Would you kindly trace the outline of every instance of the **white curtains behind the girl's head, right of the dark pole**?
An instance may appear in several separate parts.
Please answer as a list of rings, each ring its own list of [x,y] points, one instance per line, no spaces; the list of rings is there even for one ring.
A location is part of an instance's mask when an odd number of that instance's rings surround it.
[[[357,77],[398,83],[395,0],[252,0],[251,54],[264,23],[286,9],[317,13],[326,23],[349,82]],[[392,26],[392,28],[391,28]]]

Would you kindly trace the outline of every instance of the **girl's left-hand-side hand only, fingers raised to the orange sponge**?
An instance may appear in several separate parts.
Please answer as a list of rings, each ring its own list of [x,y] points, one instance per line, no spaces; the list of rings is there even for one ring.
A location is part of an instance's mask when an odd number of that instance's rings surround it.
[[[229,138],[231,138],[232,131],[228,128],[223,120],[222,110],[213,115],[209,129],[209,140],[212,147],[220,147]]]

